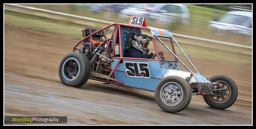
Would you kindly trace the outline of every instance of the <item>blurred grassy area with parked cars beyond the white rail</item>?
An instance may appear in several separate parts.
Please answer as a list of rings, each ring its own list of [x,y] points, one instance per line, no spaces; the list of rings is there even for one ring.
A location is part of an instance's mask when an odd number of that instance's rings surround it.
[[[145,17],[148,26],[167,29],[173,33],[244,45],[251,43],[251,4],[26,4],[24,6],[119,23],[127,23],[131,15],[137,15]],[[33,11],[33,13],[37,12]],[[67,22],[73,21],[73,18],[67,20]],[[89,21],[81,24],[96,26]],[[97,25],[99,28],[103,26],[103,24]]]

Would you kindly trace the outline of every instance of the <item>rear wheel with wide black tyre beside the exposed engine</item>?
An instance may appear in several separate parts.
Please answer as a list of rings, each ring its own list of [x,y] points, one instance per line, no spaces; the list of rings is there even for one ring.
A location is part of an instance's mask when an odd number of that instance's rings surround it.
[[[64,64],[65,63],[65,64]],[[64,66],[63,66],[64,65]],[[79,70],[80,68],[80,70]],[[59,76],[63,84],[71,87],[81,87],[89,79],[91,66],[89,59],[77,52],[72,52],[60,61]],[[72,77],[73,74],[73,77]]]

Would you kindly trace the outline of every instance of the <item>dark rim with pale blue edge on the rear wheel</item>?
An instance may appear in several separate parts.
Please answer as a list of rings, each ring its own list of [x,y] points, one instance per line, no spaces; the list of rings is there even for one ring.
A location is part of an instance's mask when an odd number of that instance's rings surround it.
[[[72,64],[73,63],[73,64]],[[73,68],[75,67],[75,72]],[[68,67],[68,69],[67,69]],[[72,69],[72,70],[71,70]],[[77,72],[77,73],[76,73]],[[80,74],[80,63],[74,57],[66,59],[62,65],[62,75],[67,81],[74,81]]]

